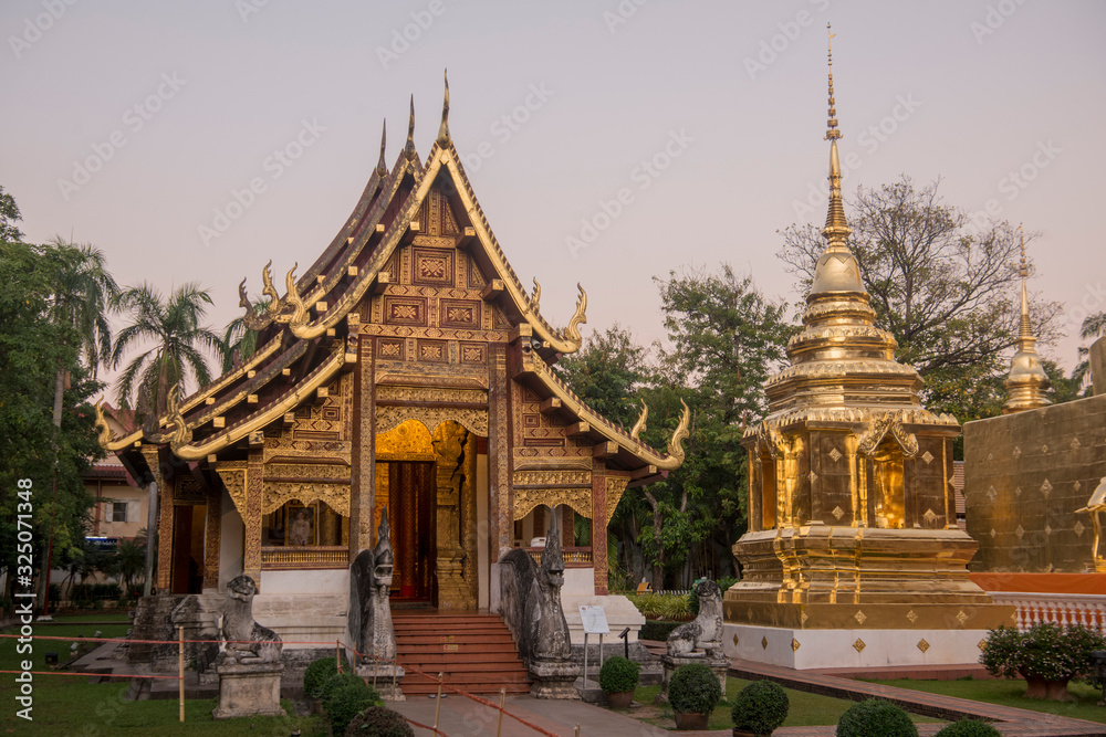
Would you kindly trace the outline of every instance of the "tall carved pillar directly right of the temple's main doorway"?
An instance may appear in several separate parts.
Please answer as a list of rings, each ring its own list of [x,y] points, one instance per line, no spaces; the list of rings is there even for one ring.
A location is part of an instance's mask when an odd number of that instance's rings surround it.
[[[488,382],[488,537],[491,540],[491,560],[498,561],[500,552],[511,548],[513,519],[511,516],[511,449],[510,449],[510,391],[507,378],[507,347],[488,345],[491,376]]]

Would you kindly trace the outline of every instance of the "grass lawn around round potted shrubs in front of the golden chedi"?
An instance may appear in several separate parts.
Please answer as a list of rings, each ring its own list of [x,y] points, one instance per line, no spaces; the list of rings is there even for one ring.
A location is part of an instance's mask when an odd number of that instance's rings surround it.
[[[727,701],[719,704],[714,712],[710,715],[710,729],[729,729],[733,726],[733,720],[730,718],[731,704],[733,703],[733,698],[737,697],[738,692],[748,686],[750,683],[750,681],[734,678],[733,676],[726,680]],[[845,713],[845,709],[856,703],[842,698],[808,694],[803,691],[792,691],[791,688],[784,688],[784,691],[786,692],[787,701],[791,704],[791,707],[787,710],[787,720],[783,723],[784,727],[816,727],[835,725],[837,724],[837,719],[841,718],[841,715]],[[676,723],[672,719],[672,709],[667,704],[662,706],[653,706],[659,694],[660,686],[639,686],[634,692],[634,701],[644,704],[645,706],[639,709],[617,710],[622,710],[625,714],[637,717],[643,722],[647,722],[658,727],[675,729]],[[943,724],[940,719],[931,719],[929,717],[918,716],[917,714],[911,714],[910,719],[916,724]]]

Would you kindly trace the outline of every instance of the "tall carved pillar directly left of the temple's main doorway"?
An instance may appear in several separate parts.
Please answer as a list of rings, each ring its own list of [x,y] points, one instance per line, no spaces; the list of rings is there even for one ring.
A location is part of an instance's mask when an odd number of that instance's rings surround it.
[[[349,315],[349,329],[355,327]],[[357,324],[359,326],[359,324]],[[353,379],[353,450],[349,474],[349,523],[343,539],[349,546],[349,562],[357,554],[373,547],[374,504],[376,498],[376,381],[373,350],[376,340],[357,340],[357,366]],[[345,543],[344,543],[345,544]]]

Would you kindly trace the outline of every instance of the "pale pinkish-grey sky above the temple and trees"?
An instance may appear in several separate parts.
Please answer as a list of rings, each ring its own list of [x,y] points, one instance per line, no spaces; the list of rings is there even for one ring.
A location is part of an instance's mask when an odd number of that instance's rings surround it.
[[[670,270],[729,262],[800,298],[776,231],[825,218],[827,21],[846,193],[942,177],[1040,231],[1031,288],[1072,336],[1045,352],[1071,367],[1106,309],[1102,2],[8,0],[0,185],[29,240],[94,243],[124,285],[199,282],[221,331],[243,276],[258,294],[265,261],[302,272],[330,243],[384,118],[395,161],[411,93],[425,157],[448,66],[453,141],[546,318],[578,281],[585,336],[649,343]]]

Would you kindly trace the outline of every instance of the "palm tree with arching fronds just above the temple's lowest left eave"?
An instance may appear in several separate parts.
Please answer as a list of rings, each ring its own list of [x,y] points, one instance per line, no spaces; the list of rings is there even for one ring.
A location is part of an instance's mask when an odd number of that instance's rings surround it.
[[[173,385],[179,381],[184,386],[189,373],[198,386],[211,381],[202,351],[218,351],[221,340],[210,328],[200,325],[207,313],[206,305],[212,304],[207,289],[185,284],[174,289],[166,301],[157,288],[143,282],[119,295],[117,304],[129,313],[129,324],[115,339],[112,366],[117,368],[135,345],[145,340],[156,344],[134,357],[119,376],[116,397],[121,404],[135,407],[146,415],[160,417]]]

